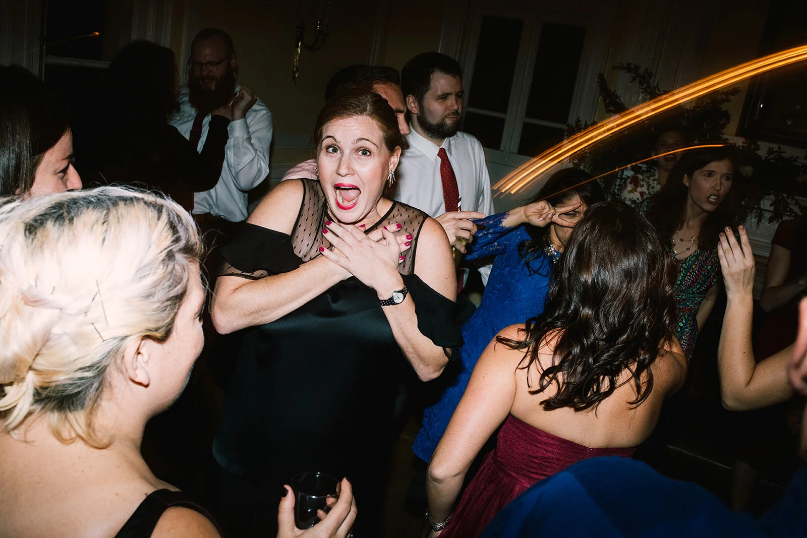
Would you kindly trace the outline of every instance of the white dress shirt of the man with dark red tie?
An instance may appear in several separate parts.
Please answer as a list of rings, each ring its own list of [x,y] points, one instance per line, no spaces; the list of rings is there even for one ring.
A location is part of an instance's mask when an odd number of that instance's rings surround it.
[[[395,170],[396,200],[417,207],[432,217],[445,213],[440,157],[437,156],[440,148],[445,148],[454,176],[457,177],[462,211],[479,211],[485,215],[495,213],[485,153],[475,136],[458,131],[437,146],[411,128],[406,139],[409,148],[401,155],[398,169]],[[487,284],[490,272],[490,265],[479,269],[483,283]]]

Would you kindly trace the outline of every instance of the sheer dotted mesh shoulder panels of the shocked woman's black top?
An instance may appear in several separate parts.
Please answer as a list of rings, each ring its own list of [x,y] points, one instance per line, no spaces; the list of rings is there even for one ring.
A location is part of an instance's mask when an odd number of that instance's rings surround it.
[[[320,247],[327,247],[327,241],[322,235],[325,220],[328,219],[328,204],[322,191],[320,182],[313,179],[303,179],[303,204],[300,206],[299,216],[291,231],[291,247],[302,261],[309,261],[320,255]],[[403,253],[403,261],[398,266],[401,274],[412,274],[415,269],[415,255],[417,238],[420,228],[429,215],[401,202],[392,202],[390,211],[378,223],[367,231],[373,231],[381,226],[400,224],[399,233],[412,234],[412,248]]]

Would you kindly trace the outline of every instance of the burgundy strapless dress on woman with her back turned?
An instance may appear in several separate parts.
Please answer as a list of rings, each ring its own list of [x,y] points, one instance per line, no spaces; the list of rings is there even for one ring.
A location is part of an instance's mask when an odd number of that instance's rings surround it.
[[[507,503],[542,478],[588,457],[630,457],[634,450],[584,447],[508,415],[495,450],[468,484],[440,538],[479,536]]]

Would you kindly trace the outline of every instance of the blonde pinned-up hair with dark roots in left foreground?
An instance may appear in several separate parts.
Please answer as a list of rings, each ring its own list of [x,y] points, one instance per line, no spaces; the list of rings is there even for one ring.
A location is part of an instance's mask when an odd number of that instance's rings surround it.
[[[132,340],[168,339],[201,251],[190,215],[142,191],[0,205],[2,430],[43,415],[62,441],[105,444],[93,416],[107,371]]]

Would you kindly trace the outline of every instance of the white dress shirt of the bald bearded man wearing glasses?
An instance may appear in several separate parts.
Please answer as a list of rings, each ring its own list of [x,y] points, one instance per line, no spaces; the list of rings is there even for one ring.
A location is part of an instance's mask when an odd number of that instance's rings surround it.
[[[240,85],[236,87],[240,90]],[[190,138],[196,109],[188,102],[188,87],[182,86],[180,110],[171,125],[185,138]],[[202,137],[197,151],[201,152],[207,139],[211,115],[202,124]],[[233,223],[247,218],[247,193],[269,175],[269,146],[272,143],[272,113],[257,99],[244,119],[228,126],[229,140],[224,147],[224,165],[219,182],[211,190],[194,194],[194,215],[210,213]]]

